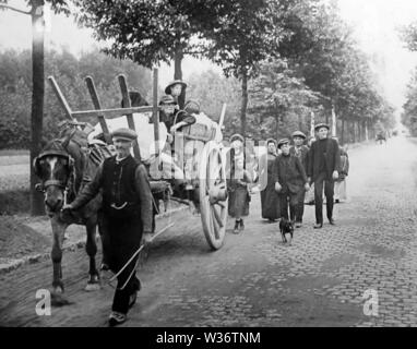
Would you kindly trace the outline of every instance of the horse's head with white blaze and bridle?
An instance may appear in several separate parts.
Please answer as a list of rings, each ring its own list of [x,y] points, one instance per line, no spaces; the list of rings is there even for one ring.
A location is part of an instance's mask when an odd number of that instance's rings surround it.
[[[37,186],[45,194],[46,210],[49,216],[58,213],[67,201],[73,183],[75,159],[70,141],[75,132],[64,139],[53,140],[34,159],[34,170],[41,183]]]

